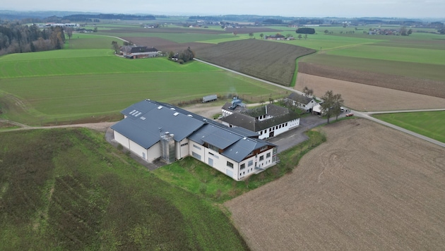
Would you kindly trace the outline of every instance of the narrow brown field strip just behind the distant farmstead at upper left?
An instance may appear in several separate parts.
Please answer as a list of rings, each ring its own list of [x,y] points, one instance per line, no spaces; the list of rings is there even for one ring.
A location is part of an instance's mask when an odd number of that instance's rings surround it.
[[[195,51],[196,49],[205,49],[207,47],[212,47],[215,44],[206,44],[206,43],[198,43],[198,42],[189,42],[189,43],[177,43],[172,42],[167,39],[162,39],[160,37],[122,37],[126,41],[131,41],[134,44],[138,44],[138,46],[146,46],[146,47],[155,47],[160,51],[184,51],[190,47],[191,50]]]

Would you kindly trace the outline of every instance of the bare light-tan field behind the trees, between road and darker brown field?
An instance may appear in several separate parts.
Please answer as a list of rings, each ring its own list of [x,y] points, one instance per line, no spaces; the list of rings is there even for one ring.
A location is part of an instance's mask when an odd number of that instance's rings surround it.
[[[327,90],[340,93],[345,106],[359,111],[445,108],[445,99],[439,97],[298,73],[295,90],[301,91],[305,86],[314,90],[316,97]]]

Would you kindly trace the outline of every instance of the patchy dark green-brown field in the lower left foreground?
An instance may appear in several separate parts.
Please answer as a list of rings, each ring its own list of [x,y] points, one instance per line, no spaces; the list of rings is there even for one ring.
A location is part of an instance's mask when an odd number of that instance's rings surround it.
[[[220,207],[87,129],[0,133],[0,250],[249,250]]]

